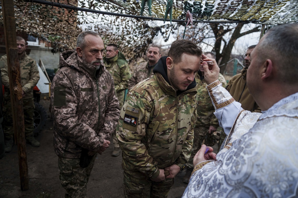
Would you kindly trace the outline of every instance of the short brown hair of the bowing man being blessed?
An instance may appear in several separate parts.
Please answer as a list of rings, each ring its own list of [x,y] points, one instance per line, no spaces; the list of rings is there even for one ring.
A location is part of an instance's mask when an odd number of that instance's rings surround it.
[[[197,46],[193,41],[179,39],[172,43],[168,56],[172,58],[174,63],[179,63],[184,53],[201,57],[202,48]]]

